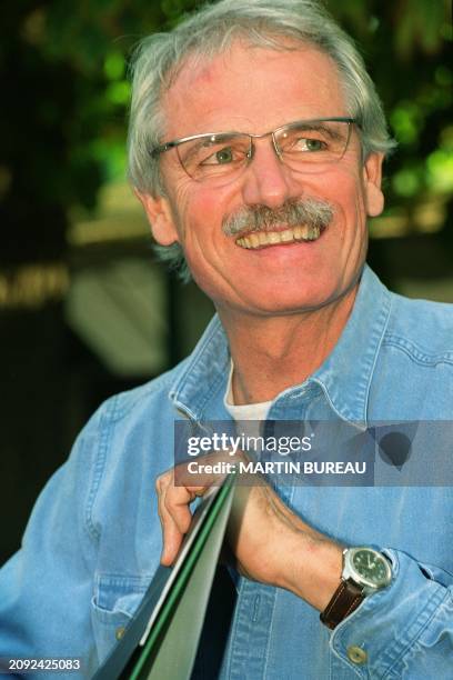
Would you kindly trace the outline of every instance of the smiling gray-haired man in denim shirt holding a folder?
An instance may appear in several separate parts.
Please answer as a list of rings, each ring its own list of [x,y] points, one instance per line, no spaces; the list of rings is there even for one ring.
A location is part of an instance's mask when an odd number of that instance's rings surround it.
[[[144,41],[129,148],[157,242],[182,249],[218,317],[189,359],[93,417],[3,568],[0,656],[82,657],[88,676],[203,491],[173,483],[175,419],[363,430],[452,412],[451,308],[394,296],[364,264],[392,141],[318,3],[223,0]],[[264,486],[243,501],[219,677],[451,674],[451,488]]]

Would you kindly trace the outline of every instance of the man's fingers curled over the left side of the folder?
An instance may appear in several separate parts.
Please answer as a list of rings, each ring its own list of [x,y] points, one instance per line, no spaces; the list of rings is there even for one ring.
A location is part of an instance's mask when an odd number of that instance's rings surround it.
[[[190,527],[192,514],[189,504],[197,496],[204,493],[205,487],[175,487],[174,471],[169,470],[158,478],[155,490],[163,533],[161,563],[169,567],[173,563]]]

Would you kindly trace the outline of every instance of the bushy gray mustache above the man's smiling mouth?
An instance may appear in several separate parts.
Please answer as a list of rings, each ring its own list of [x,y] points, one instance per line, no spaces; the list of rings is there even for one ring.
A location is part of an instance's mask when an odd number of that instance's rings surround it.
[[[223,218],[222,230],[225,236],[272,231],[275,227],[281,229],[301,224],[321,230],[328,227],[333,214],[333,206],[329,201],[314,198],[291,199],[275,209],[262,204],[243,207]]]

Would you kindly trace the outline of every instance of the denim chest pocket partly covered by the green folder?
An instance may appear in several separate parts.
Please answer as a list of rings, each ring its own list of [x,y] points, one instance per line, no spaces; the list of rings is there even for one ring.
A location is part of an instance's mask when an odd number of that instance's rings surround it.
[[[150,581],[151,576],[95,576],[91,621],[100,663],[121,638]]]

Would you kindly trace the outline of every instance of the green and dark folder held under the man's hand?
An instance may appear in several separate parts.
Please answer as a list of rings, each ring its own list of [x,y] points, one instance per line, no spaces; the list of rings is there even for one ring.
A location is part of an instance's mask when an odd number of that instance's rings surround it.
[[[233,498],[233,474],[197,509],[174,566],[160,567],[95,680],[189,680]]]

